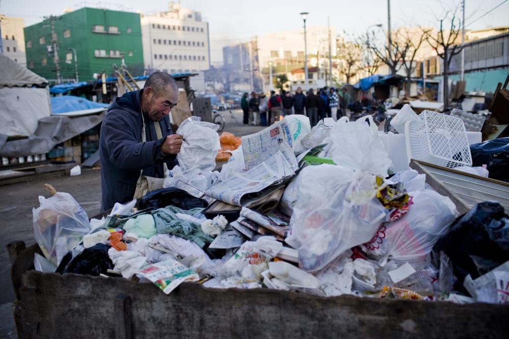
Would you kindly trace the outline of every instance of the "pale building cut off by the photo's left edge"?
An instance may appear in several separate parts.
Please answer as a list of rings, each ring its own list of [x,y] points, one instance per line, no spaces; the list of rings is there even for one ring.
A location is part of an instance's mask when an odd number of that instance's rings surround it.
[[[25,36],[23,33],[25,20],[0,14],[0,25],[3,53],[26,67]]]

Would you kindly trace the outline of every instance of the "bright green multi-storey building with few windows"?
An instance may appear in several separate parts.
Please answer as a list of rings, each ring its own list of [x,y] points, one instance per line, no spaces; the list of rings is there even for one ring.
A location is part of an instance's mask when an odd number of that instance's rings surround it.
[[[122,56],[133,76],[143,74],[142,29],[138,13],[82,8],[54,20],[60,58],[60,78],[75,79],[74,50],[79,81],[93,80],[94,73],[114,75]],[[56,79],[52,55],[51,19],[24,28],[27,67]]]

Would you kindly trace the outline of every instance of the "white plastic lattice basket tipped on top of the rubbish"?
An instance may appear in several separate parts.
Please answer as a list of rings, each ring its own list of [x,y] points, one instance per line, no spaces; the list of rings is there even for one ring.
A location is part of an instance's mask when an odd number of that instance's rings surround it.
[[[472,166],[465,124],[460,118],[423,111],[405,125],[407,156],[410,159],[455,168]]]

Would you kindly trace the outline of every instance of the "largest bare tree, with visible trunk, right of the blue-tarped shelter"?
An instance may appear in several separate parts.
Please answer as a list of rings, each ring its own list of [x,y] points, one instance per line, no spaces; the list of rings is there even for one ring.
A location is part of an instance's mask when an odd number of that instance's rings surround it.
[[[456,39],[460,34],[461,20],[456,17],[457,10],[454,12],[447,11],[442,19],[440,19],[440,30],[434,37],[430,30],[422,29],[423,35],[426,36],[428,43],[437,51],[438,57],[443,60],[443,89],[444,89],[444,109],[449,106],[449,66],[453,57],[459,53],[463,47],[456,44]],[[444,24],[450,20],[450,28],[447,32]]]

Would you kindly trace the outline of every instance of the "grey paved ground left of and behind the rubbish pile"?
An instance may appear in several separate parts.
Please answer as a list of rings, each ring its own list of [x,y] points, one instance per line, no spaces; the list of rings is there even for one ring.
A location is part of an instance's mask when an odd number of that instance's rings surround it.
[[[226,120],[224,131],[232,132],[236,136],[258,132],[262,127],[243,126],[242,111],[222,111]],[[16,337],[16,330],[12,318],[12,302],[14,292],[10,280],[11,265],[6,246],[14,240],[23,240],[27,245],[35,242],[32,225],[32,208],[39,206],[38,196],[49,197],[44,184],[51,184],[56,190],[70,193],[83,207],[89,217],[100,212],[101,179],[98,169],[82,170],[80,176],[45,174],[30,177],[31,181],[0,186],[2,200],[0,213],[2,214],[2,236],[0,237],[0,337]]]

